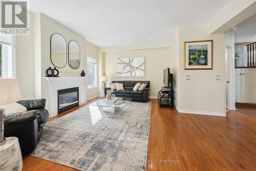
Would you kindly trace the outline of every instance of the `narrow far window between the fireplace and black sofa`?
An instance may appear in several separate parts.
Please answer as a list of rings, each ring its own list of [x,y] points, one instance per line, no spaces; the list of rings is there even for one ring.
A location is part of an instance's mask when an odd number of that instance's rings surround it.
[[[97,59],[87,56],[87,85],[88,89],[97,87]]]

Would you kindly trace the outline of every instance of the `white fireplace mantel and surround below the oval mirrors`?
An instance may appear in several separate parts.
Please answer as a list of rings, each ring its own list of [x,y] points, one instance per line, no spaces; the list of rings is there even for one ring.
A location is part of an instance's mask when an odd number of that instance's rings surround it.
[[[86,77],[44,77],[48,82],[49,117],[58,115],[58,90],[79,87],[79,105],[86,103]]]

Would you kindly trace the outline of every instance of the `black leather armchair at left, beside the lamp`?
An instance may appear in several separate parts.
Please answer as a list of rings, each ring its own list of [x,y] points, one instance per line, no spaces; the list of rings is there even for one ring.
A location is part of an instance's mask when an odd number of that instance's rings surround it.
[[[34,151],[49,118],[46,99],[20,100],[27,112],[5,115],[5,137],[17,137],[23,156]]]

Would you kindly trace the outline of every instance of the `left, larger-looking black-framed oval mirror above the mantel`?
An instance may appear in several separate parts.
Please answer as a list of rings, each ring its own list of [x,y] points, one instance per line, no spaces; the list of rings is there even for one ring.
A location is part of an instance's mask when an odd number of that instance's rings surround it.
[[[67,41],[66,39],[55,33],[51,36],[51,61],[57,68],[63,68],[67,65]]]

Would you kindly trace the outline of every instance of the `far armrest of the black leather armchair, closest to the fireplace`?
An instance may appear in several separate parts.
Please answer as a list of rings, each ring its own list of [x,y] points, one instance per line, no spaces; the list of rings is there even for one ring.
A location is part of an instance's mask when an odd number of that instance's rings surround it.
[[[25,106],[28,111],[35,109],[45,109],[46,99],[19,100],[17,103]]]

